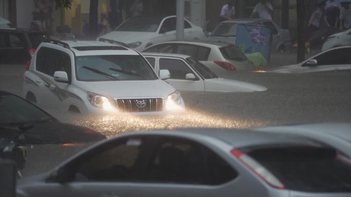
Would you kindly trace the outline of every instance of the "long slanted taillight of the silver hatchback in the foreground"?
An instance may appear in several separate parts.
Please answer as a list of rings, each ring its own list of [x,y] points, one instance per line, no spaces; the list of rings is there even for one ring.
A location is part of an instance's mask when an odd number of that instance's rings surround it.
[[[264,166],[258,163],[255,159],[246,155],[239,149],[232,149],[231,154],[239,159],[240,162],[245,164],[249,169],[257,174],[263,181],[268,183],[272,187],[276,187],[278,189],[285,189],[285,186],[272,174],[270,173]]]

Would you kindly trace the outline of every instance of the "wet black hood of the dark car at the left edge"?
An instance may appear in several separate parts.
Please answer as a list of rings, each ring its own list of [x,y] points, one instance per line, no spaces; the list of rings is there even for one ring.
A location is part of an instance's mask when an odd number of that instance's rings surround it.
[[[4,127],[4,126],[3,126]],[[0,138],[15,136],[20,132],[17,126],[8,126],[0,129]],[[106,139],[94,130],[59,121],[35,123],[24,133],[27,144],[65,144],[84,143]]]

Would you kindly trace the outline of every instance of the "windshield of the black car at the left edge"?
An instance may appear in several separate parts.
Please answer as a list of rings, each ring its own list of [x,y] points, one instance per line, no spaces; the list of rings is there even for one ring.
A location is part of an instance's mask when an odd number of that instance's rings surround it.
[[[24,99],[11,94],[0,95],[0,124],[44,122],[52,119]]]

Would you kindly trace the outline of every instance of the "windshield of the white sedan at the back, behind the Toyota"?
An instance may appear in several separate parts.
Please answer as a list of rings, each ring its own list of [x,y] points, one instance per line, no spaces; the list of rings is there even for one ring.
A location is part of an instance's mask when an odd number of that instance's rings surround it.
[[[131,18],[114,31],[156,32],[161,23],[157,18]]]

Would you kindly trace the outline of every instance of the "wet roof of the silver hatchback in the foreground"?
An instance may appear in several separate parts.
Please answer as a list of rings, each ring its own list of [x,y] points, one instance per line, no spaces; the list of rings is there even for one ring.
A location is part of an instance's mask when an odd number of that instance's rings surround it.
[[[293,134],[265,133],[252,130],[222,129],[222,128],[186,128],[173,130],[153,130],[146,132],[131,132],[123,136],[134,135],[165,135],[174,137],[211,137],[219,139],[235,148],[257,145],[307,145],[321,146],[320,143],[306,137]]]

